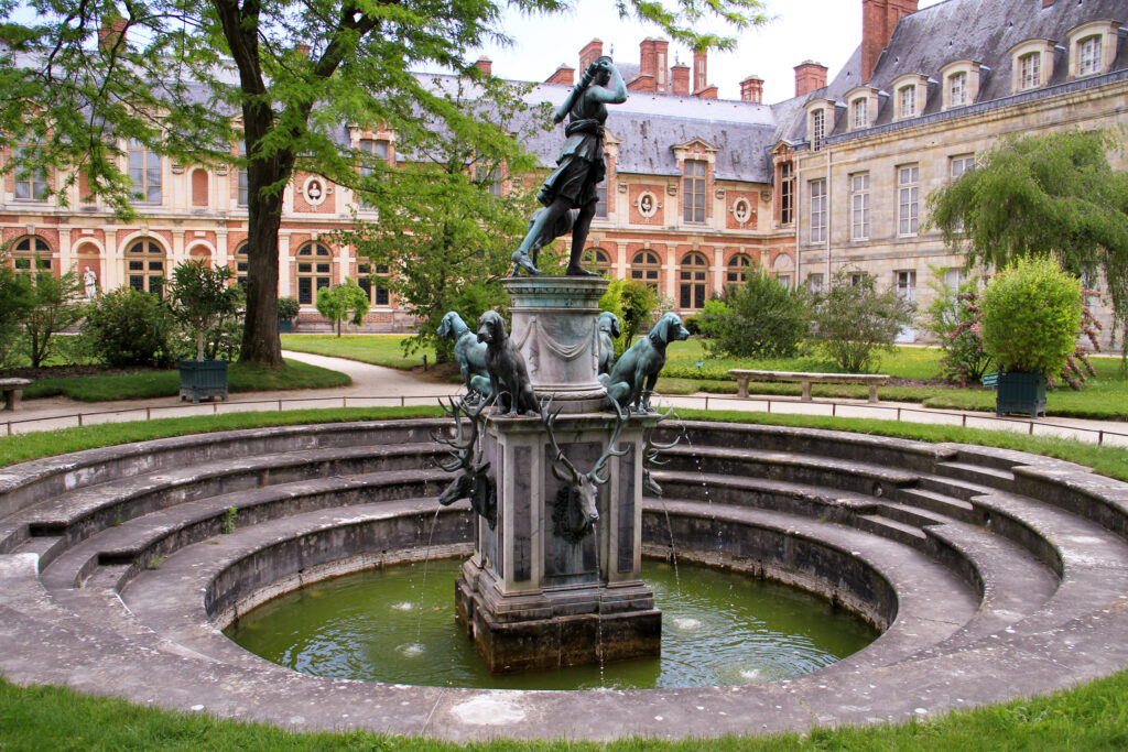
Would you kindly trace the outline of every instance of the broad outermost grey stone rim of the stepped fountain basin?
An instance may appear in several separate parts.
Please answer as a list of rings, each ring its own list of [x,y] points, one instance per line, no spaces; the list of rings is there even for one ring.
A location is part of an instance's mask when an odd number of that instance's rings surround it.
[[[340,424],[336,427],[340,430]],[[308,434],[318,427],[294,428],[292,434]],[[820,435],[841,437],[821,430],[777,431],[796,441],[814,441]],[[922,457],[937,452],[936,445],[904,440],[873,441],[871,445],[914,446]],[[982,448],[976,449],[984,452]],[[122,453],[134,455],[144,454],[144,445],[121,448]],[[107,453],[114,452],[95,450],[86,459]],[[986,453],[1016,462],[1015,476],[1026,486],[1093,499],[1086,513],[1110,520],[1122,534],[1128,484],[1039,455],[1008,450]],[[23,487],[17,477],[20,468],[30,472],[50,472],[54,468],[73,478],[86,467],[76,457],[9,468],[0,485],[9,489]],[[327,529],[350,520],[355,523],[358,512],[355,507],[341,510],[341,519]],[[395,516],[389,512],[372,511],[376,515],[382,513],[384,519]],[[411,513],[417,514],[418,510]],[[809,522],[812,529],[820,524]],[[262,532],[268,537],[268,530]],[[1099,555],[1089,560],[1066,557],[1063,566],[1065,580],[1070,569],[1074,576],[1099,574],[1109,580],[1110,592],[1119,591],[1102,595],[1105,600],[1101,602],[1051,603],[1059,618],[1048,627],[1001,631],[960,649],[926,652],[892,665],[857,665],[847,660],[795,680],[751,687],[514,692],[325,680],[294,674],[259,658],[248,662],[248,654],[243,658],[233,653],[226,658],[208,655],[185,644],[183,635],[176,639],[175,629],[168,631],[168,625],[146,623],[135,612],[122,610],[121,602],[115,603],[116,586],[73,591],[69,601],[55,602],[39,581],[37,556],[17,551],[0,555],[0,609],[5,617],[0,619],[0,635],[10,648],[0,656],[0,669],[18,682],[68,683],[143,704],[204,709],[294,728],[364,727],[461,741],[802,731],[817,725],[904,720],[1045,693],[1128,665],[1128,644],[1122,639],[1128,627],[1128,557],[1119,551],[1103,559]],[[166,574],[171,574],[171,568]],[[126,589],[126,595],[133,586]],[[171,627],[185,634],[214,630],[199,620],[190,621]],[[363,713],[354,715],[342,709]]]

